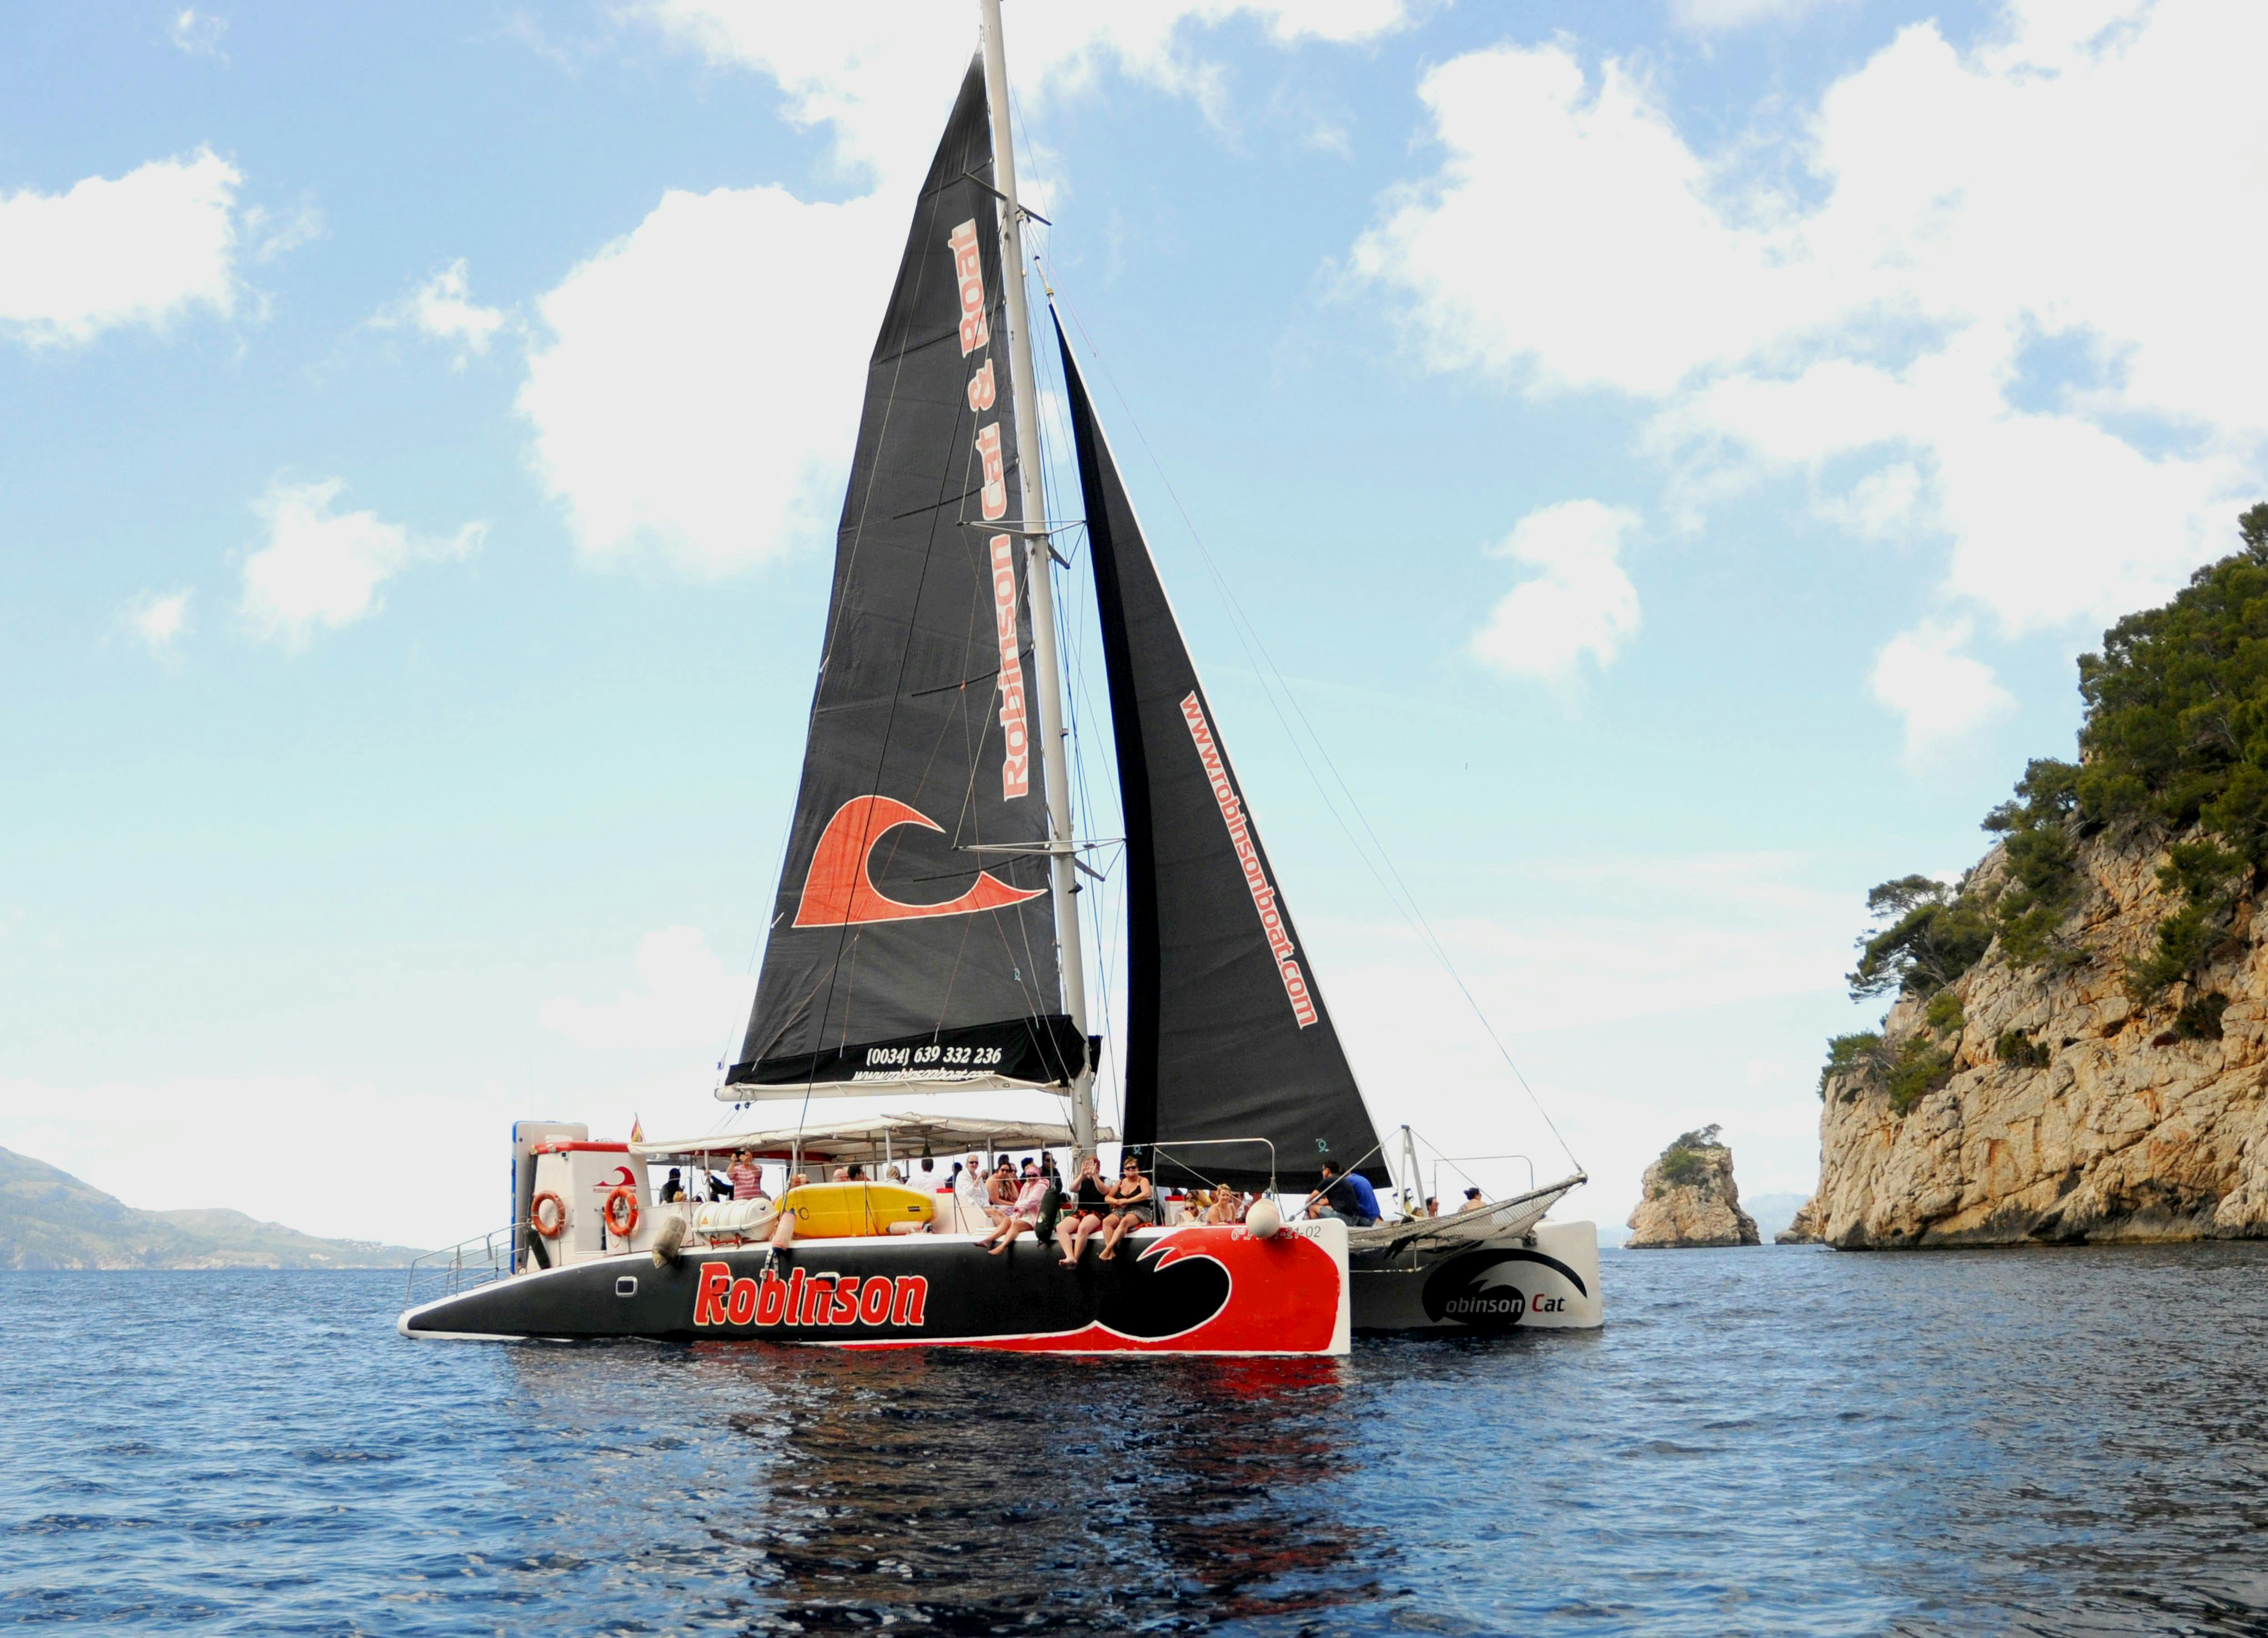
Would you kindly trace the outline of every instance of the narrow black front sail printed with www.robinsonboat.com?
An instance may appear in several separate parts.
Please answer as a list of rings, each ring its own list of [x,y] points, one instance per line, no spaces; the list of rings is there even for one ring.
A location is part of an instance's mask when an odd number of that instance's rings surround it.
[[[1057,327],[1057,343],[1064,343]],[[1268,1182],[1320,1159],[1388,1182],[1220,719],[1061,345],[1127,828],[1125,1141],[1168,1182]],[[1202,1148],[1198,1146],[1202,1143]],[[1186,1146],[1186,1148],[1175,1148]]]

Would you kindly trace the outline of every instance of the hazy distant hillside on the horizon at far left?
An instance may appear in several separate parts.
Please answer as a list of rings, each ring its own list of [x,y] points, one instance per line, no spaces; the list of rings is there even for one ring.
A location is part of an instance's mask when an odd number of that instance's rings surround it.
[[[136,1211],[0,1148],[0,1268],[401,1268],[406,1246],[327,1241],[243,1211]]]

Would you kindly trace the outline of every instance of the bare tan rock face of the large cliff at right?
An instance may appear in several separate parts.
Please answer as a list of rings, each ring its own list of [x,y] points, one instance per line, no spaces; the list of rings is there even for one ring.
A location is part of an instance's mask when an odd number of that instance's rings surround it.
[[[2268,1236],[2268,901],[2239,898],[2191,978],[2139,1003],[2130,964],[2180,903],[2166,842],[2082,837],[2055,957],[1994,937],[1878,1046],[1837,1041],[1796,1227],[1842,1248]],[[2003,846],[1964,892],[2005,880]]]

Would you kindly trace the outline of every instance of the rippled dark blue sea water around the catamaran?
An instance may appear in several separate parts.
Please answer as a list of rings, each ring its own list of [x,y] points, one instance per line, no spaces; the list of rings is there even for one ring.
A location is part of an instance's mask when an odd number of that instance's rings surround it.
[[[2268,1246],[1608,1252],[1345,1361],[413,1343],[0,1275],[0,1624],[2268,1633]]]

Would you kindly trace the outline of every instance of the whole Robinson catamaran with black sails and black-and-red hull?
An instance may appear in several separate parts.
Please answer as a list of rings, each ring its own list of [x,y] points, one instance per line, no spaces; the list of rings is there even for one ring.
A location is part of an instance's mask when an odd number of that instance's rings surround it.
[[[1048,508],[1007,109],[1000,5],[982,0],[866,370],[803,780],[717,1087],[742,1107],[794,1100],[798,1121],[660,1141],[519,1123],[510,1227],[413,1270],[408,1336],[1331,1354],[1356,1329],[1601,1323],[1594,1227],[1545,1221],[1581,1171],[1456,1216],[1300,1211],[1322,1162],[1388,1191],[1393,1168],[1061,322],[1084,515]],[[1095,1114],[1077,878],[1098,876],[1100,844],[1073,821],[1057,642],[1055,574],[1073,572],[1057,542],[1080,535],[1123,817],[1120,1132]],[[810,1114],[971,1091],[1048,1091],[1068,1118]],[[880,1173],[1109,1141],[1159,1189],[1259,1205],[1241,1223],[1161,1214],[1118,1255],[1066,1264],[1041,1239],[991,1255],[950,1191],[823,1180],[694,1205],[649,1182],[744,1150]],[[1404,1162],[1415,1173],[1406,1128]],[[1404,1177],[1404,1207],[1417,1198]]]

